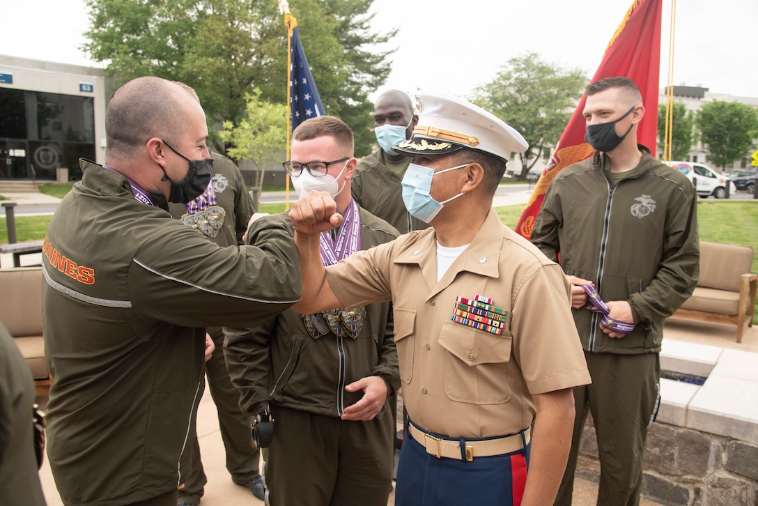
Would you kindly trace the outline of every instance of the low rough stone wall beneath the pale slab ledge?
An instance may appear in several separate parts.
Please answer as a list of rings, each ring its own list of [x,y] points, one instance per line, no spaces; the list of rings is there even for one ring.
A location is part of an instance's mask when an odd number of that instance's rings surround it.
[[[593,482],[600,477],[591,416],[584,425],[577,475]],[[758,447],[653,423],[645,445],[642,495],[666,506],[758,506]]]

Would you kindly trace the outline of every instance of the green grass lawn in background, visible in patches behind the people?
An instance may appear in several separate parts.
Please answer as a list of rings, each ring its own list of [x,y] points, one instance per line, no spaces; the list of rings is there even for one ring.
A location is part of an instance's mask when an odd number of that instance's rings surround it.
[[[69,185],[48,184],[49,191],[70,189]],[[45,188],[42,187],[42,188]],[[42,190],[40,188],[40,190]],[[45,188],[48,190],[47,188]],[[45,191],[44,193],[48,193]],[[52,194],[52,193],[51,193]],[[61,195],[62,196],[62,195]],[[261,212],[276,214],[284,211],[284,203],[261,204]],[[500,219],[510,228],[515,228],[524,206],[502,206],[497,208]],[[16,237],[24,240],[43,239],[50,222],[50,216],[16,216]],[[700,228],[700,240],[721,244],[747,244],[756,251],[753,257],[753,272],[758,272],[758,201],[756,200],[698,200],[697,222]],[[8,228],[5,216],[0,218],[0,243],[8,242]],[[758,323],[758,302],[756,317]]]

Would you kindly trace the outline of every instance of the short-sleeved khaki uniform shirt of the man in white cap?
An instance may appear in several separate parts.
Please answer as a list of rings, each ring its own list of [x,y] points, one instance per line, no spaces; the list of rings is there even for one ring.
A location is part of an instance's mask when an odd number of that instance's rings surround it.
[[[437,282],[433,228],[359,251],[327,268],[340,301],[392,300],[401,391],[409,417],[458,438],[531,425],[532,395],[590,382],[561,268],[500,222],[494,209]],[[456,297],[506,310],[502,335],[451,319]]]

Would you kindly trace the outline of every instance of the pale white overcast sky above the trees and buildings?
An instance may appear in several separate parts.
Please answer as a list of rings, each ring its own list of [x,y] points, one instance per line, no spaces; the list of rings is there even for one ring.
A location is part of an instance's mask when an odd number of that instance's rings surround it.
[[[89,22],[84,0],[4,4],[0,54],[97,66],[78,49]],[[399,28],[391,44],[398,48],[393,71],[381,90],[469,96],[510,58],[526,52],[592,77],[630,5],[631,0],[375,0],[374,29]],[[661,86],[669,74],[671,9],[672,0],[663,0]],[[758,97],[758,1],[684,0],[677,2],[675,20],[674,84]]]

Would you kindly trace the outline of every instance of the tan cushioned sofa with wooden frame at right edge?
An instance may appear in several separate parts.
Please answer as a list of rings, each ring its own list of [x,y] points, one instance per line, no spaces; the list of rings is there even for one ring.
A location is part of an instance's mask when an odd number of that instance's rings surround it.
[[[692,297],[672,318],[724,323],[737,327],[737,342],[753,325],[756,275],[753,247],[700,242],[700,279]]]

